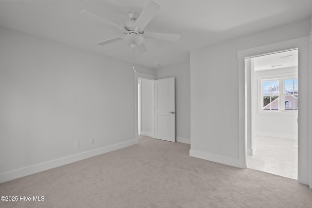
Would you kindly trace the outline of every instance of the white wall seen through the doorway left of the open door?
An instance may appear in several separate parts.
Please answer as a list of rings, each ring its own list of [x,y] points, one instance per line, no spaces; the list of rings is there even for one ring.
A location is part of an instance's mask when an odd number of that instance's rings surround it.
[[[154,114],[154,81],[141,79],[141,132],[140,134],[154,135],[153,114]]]

